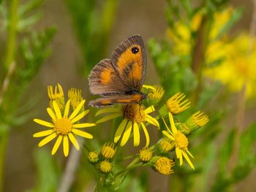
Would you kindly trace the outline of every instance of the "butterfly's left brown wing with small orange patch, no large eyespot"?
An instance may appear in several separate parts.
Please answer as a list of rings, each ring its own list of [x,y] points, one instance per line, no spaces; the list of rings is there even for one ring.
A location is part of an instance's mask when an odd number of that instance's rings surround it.
[[[110,59],[104,59],[91,69],[89,89],[94,95],[124,94],[127,87],[113,69]]]

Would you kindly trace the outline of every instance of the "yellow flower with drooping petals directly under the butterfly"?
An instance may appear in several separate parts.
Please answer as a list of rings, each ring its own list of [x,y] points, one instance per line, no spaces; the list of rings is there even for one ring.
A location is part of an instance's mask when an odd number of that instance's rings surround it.
[[[103,110],[99,110],[96,113],[96,116],[110,113],[106,115],[105,117],[97,120],[97,123],[102,123],[107,120],[111,120],[113,118],[118,117],[124,117],[124,119],[121,121],[120,125],[118,126],[116,130],[116,134],[114,137],[114,142],[118,142],[119,139],[121,139],[120,145],[124,146],[129,136],[133,130],[133,145],[138,146],[140,144],[140,126],[142,127],[145,137],[146,137],[146,147],[149,145],[149,135],[148,131],[146,129],[145,123],[151,123],[154,126],[159,127],[158,121],[151,117],[151,115],[148,115],[149,113],[154,112],[154,106],[148,107],[145,109],[143,105],[140,104],[127,104],[122,109],[108,107]]]

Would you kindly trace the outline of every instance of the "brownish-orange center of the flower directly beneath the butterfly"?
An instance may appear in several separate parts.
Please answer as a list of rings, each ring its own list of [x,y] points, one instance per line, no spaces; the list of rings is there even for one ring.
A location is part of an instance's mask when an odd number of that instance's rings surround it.
[[[145,107],[140,104],[127,104],[123,107],[124,118],[141,123],[146,121]]]

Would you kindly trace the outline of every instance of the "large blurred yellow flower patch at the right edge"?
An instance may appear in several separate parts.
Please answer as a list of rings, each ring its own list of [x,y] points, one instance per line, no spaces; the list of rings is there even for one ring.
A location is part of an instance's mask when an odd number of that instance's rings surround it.
[[[206,69],[205,75],[214,80],[220,80],[230,91],[238,92],[246,83],[246,97],[255,96],[256,88],[256,42],[249,54],[249,34],[240,34],[233,41],[222,45],[221,51],[225,59],[211,69]]]

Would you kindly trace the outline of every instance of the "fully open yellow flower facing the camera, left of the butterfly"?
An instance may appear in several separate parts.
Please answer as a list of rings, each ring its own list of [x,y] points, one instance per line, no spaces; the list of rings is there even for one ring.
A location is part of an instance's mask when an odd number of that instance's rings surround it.
[[[45,137],[45,139],[42,139],[42,141],[39,142],[38,146],[42,147],[43,145],[58,137],[55,145],[53,146],[51,154],[54,155],[56,153],[56,151],[59,149],[59,145],[63,140],[64,155],[67,157],[67,155],[69,155],[69,140],[72,142],[77,150],[79,150],[80,148],[77,139],[75,139],[74,137],[74,134],[77,134],[80,137],[92,139],[93,136],[91,134],[88,134],[85,131],[80,131],[79,128],[96,126],[96,124],[76,123],[78,122],[78,120],[86,116],[86,114],[89,112],[89,110],[80,112],[85,102],[85,100],[81,101],[78,107],[69,116],[70,100],[67,101],[67,104],[64,108],[64,115],[61,115],[61,110],[57,102],[53,101],[53,110],[50,107],[47,108],[47,112],[50,115],[53,123],[47,122],[45,120],[34,119],[34,122],[50,128],[49,130],[40,131],[33,135],[33,137],[47,136]],[[78,114],[79,112],[80,114]]]

